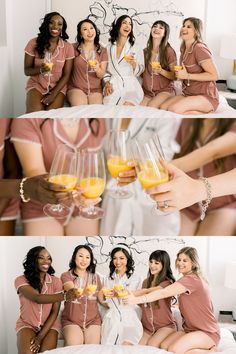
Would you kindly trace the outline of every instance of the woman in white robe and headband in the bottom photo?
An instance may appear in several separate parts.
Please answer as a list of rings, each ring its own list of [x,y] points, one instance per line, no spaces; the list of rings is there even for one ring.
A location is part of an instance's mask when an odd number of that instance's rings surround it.
[[[137,290],[141,288],[141,278],[134,274],[134,261],[126,244],[114,246],[110,254],[110,286],[119,284],[123,290]],[[140,321],[138,306],[124,306],[118,298],[119,290],[111,290],[106,297],[107,310],[102,323],[101,344],[135,345],[143,335],[143,326]],[[104,300],[103,295],[103,300]]]

